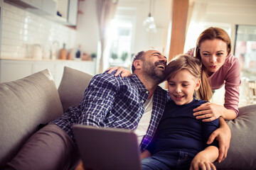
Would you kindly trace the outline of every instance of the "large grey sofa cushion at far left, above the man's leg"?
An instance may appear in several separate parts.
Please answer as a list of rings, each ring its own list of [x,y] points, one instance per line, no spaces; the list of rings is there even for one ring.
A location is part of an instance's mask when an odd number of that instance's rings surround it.
[[[48,69],[0,84],[0,167],[18,152],[41,123],[63,114]]]

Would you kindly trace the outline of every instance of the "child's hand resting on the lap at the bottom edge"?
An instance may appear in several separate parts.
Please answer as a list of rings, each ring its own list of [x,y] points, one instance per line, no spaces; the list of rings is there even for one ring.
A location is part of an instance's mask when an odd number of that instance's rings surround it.
[[[209,161],[203,154],[200,152],[196,154],[196,157],[193,158],[191,162],[191,167],[189,170],[216,170],[214,164]]]

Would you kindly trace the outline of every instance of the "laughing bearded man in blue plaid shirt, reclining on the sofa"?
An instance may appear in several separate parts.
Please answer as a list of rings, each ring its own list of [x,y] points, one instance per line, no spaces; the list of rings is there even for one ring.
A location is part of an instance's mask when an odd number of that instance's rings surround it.
[[[158,86],[165,79],[166,62],[161,52],[149,50],[134,57],[132,77],[97,74],[85,90],[80,105],[69,108],[36,132],[6,169],[73,169],[79,160],[72,130],[76,123],[135,130],[142,118],[148,125],[144,130],[138,127],[143,152],[151,142],[168,99],[167,92]],[[225,136],[218,134],[215,132],[212,138]],[[221,142],[229,145],[228,140],[220,139],[220,146]]]

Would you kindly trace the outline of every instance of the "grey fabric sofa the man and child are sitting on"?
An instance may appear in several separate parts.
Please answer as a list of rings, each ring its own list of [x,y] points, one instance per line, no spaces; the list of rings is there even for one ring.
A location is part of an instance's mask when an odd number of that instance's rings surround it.
[[[60,86],[48,69],[0,84],[0,169],[21,149],[39,125],[78,106],[92,75],[65,67]],[[228,157],[218,169],[256,169],[256,104],[239,108],[228,121],[232,137]]]

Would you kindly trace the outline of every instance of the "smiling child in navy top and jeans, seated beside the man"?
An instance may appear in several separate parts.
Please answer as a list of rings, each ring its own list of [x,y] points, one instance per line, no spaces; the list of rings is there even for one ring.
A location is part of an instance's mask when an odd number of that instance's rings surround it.
[[[154,140],[143,153],[142,169],[215,169],[218,142],[206,142],[219,120],[202,122],[193,116],[193,109],[206,103],[193,98],[194,91],[207,86],[200,86],[207,82],[206,75],[201,77],[201,62],[179,55],[167,65],[166,77],[172,101],[166,103]]]

